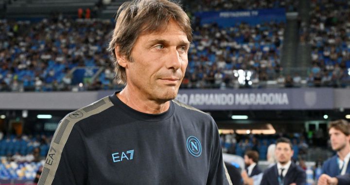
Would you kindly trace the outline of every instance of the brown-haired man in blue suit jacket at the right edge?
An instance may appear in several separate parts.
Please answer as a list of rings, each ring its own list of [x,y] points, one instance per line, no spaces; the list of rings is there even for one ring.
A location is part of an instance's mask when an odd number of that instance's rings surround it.
[[[331,146],[336,155],[324,162],[322,166],[322,173],[336,177],[350,173],[349,159],[350,159],[350,125],[345,120],[336,120],[330,122],[329,136]]]

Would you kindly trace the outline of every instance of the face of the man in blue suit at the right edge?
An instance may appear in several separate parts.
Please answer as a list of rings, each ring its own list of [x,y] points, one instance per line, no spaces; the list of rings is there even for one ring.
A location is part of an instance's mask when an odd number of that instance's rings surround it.
[[[334,151],[339,151],[349,145],[350,136],[346,136],[340,130],[331,128],[328,133],[330,136],[332,149]]]

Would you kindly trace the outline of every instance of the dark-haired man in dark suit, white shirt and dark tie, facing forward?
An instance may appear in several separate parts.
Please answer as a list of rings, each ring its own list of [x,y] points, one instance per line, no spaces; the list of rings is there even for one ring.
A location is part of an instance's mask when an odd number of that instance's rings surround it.
[[[293,149],[289,139],[281,137],[276,141],[277,164],[266,169],[261,185],[305,185],[306,173],[292,163]]]

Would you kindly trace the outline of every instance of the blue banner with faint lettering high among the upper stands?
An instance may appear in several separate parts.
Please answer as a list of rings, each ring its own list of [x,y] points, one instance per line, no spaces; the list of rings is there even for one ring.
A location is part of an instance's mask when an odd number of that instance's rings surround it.
[[[240,22],[255,25],[262,22],[286,21],[284,8],[198,12],[195,16],[200,17],[202,25],[216,22],[221,27],[232,27]]]

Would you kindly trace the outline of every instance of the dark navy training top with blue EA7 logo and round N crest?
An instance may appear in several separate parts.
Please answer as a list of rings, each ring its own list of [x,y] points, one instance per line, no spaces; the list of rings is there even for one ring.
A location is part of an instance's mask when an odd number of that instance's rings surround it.
[[[142,113],[116,94],[60,121],[38,183],[228,184],[218,129],[209,114],[176,100],[166,112]]]

